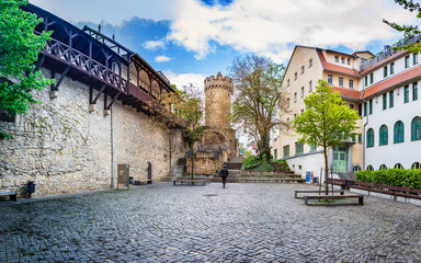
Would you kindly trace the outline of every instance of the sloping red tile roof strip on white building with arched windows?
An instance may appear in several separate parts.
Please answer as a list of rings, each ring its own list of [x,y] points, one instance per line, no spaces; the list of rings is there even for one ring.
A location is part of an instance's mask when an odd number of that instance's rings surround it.
[[[382,91],[387,91],[406,83],[410,83],[417,79],[421,79],[421,65],[414,68],[408,69],[397,76],[390,77],[377,84],[374,84],[365,91],[361,91],[364,99],[373,96]]]

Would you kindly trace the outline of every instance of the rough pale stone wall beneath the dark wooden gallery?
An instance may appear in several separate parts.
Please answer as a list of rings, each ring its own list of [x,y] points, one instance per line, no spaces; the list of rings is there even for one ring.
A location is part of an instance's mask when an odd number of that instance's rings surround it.
[[[49,71],[43,72],[50,77]],[[52,100],[48,88],[36,92],[43,104],[14,123],[0,122],[0,129],[14,137],[0,141],[0,191],[16,190],[23,195],[27,181],[36,183],[33,196],[104,190],[111,187],[112,175],[116,186],[120,163],[130,164],[134,180],[146,180],[148,161],[157,181],[185,152],[179,130],[168,129],[120,101],[112,115],[104,115],[101,95],[95,110],[89,112],[89,88],[78,81],[65,78],[57,94]]]

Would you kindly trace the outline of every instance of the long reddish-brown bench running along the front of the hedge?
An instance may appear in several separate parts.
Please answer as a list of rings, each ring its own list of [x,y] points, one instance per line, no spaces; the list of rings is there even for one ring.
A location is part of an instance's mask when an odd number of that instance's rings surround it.
[[[421,188],[409,188],[403,186],[394,186],[386,184],[375,184],[375,183],[364,183],[355,182],[354,185],[351,185],[351,188],[365,190],[368,192],[375,192],[380,194],[388,194],[392,196],[401,196],[407,198],[421,199]]]

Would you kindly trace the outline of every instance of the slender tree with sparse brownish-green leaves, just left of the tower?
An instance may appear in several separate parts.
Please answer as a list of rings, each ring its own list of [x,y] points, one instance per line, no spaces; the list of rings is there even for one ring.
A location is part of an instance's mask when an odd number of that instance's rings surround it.
[[[170,119],[171,123],[178,123],[180,117],[184,121],[182,136],[187,142],[191,152],[191,176],[194,179],[195,144],[202,139],[203,132],[207,129],[207,126],[203,125],[206,105],[203,94],[193,84],[184,87],[183,90],[179,90],[177,87],[173,88],[177,93],[169,94],[169,96],[162,100],[162,103],[168,107],[161,114],[167,119]]]

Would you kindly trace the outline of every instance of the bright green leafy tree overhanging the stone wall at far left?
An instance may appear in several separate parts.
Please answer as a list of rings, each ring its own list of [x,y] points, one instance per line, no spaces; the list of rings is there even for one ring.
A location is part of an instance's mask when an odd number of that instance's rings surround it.
[[[34,62],[50,33],[34,34],[43,20],[20,9],[25,4],[25,0],[0,1],[0,111],[12,118],[39,103],[33,98],[33,90],[52,83],[41,71],[34,72]],[[0,140],[11,138],[0,132]]]

